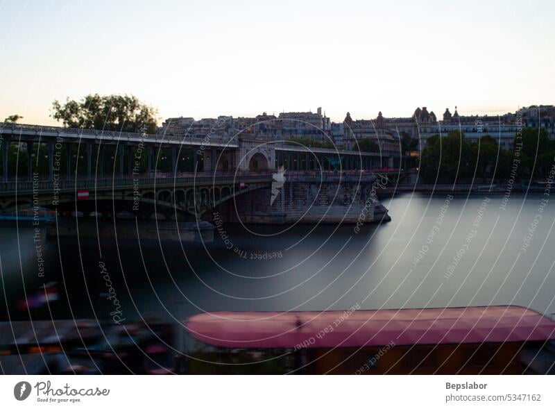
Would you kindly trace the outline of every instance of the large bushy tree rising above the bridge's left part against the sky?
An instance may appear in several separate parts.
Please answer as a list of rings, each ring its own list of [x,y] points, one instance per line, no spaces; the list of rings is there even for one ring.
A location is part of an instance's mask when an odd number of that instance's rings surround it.
[[[71,128],[105,131],[157,131],[157,110],[133,95],[89,94],[80,101],[66,99],[52,103],[51,117]]]

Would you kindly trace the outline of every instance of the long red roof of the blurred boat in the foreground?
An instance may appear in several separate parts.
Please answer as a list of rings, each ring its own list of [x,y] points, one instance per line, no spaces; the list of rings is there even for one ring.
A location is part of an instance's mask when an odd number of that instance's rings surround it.
[[[225,348],[330,348],[525,342],[555,338],[555,322],[519,306],[326,312],[212,312],[187,330]]]

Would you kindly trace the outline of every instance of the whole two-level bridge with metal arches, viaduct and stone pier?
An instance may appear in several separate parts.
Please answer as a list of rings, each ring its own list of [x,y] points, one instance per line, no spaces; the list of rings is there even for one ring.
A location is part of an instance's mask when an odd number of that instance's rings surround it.
[[[211,220],[216,209],[232,219],[237,212],[230,206],[237,206],[251,222],[273,223],[295,222],[296,214],[309,222],[321,215],[330,218],[330,207],[335,220],[345,206],[345,211],[354,209],[354,220],[368,206],[372,169],[391,171],[403,161],[252,136],[223,140],[210,134],[192,138],[4,123],[0,142],[4,214],[28,206]],[[276,183],[280,172],[288,175],[287,183]],[[324,188],[315,190],[318,183]],[[283,192],[274,203],[276,185]],[[303,206],[316,210],[301,211],[300,197],[313,197]]]

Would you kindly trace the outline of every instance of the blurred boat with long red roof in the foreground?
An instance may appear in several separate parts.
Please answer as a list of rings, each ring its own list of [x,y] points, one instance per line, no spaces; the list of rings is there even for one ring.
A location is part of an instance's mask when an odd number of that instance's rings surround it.
[[[205,312],[185,322],[191,374],[534,374],[555,322],[520,306]]]

